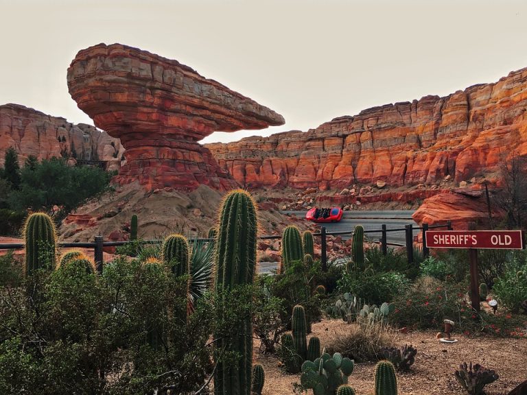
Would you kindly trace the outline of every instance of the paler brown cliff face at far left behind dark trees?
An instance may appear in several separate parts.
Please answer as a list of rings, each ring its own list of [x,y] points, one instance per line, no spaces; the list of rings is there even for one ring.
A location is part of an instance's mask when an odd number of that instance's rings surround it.
[[[16,149],[21,165],[34,155],[39,160],[54,156],[108,160],[110,169],[119,168],[124,152],[119,139],[91,125],[75,125],[18,104],[0,106],[0,165],[9,147]]]

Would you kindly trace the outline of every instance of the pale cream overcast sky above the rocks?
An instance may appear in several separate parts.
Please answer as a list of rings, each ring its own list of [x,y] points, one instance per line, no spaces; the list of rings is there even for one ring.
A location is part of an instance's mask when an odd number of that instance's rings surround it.
[[[527,67],[526,0],[0,0],[0,104],[93,121],[66,82],[98,43],[176,59],[316,128],[373,106],[449,95]]]

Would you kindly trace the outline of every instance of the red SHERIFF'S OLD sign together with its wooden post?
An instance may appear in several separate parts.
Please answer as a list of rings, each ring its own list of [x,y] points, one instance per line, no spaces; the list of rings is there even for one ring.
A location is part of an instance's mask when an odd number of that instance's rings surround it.
[[[523,250],[522,230],[428,230],[425,243],[428,248],[467,248],[470,262],[470,294],[472,308],[480,312],[480,287],[478,286],[478,249]]]

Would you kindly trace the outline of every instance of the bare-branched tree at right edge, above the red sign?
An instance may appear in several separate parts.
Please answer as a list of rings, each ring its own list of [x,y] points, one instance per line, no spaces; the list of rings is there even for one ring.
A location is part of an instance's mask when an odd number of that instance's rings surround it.
[[[513,153],[500,169],[501,189],[495,204],[506,213],[508,229],[521,228],[527,214],[527,160]]]

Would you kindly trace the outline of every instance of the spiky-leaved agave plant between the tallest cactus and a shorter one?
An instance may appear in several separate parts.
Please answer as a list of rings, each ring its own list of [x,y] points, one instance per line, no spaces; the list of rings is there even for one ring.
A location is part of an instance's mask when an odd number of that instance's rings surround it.
[[[190,258],[190,297],[195,302],[209,289],[214,261],[214,243],[195,239]]]

